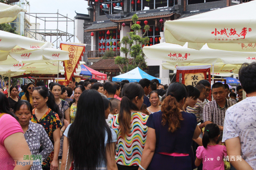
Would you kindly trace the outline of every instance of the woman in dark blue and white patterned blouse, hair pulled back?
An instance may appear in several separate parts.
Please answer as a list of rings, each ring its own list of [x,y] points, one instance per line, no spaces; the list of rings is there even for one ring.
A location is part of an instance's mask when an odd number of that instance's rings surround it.
[[[31,155],[35,156],[33,159],[36,160],[35,162],[44,161],[53,151],[53,144],[46,134],[44,127],[30,121],[32,114],[31,104],[26,100],[18,101],[14,105],[14,113],[19,119],[25,139],[29,145]],[[39,151],[40,146],[42,147],[41,152]],[[35,163],[33,166],[31,166],[30,170],[42,170],[41,163]]]

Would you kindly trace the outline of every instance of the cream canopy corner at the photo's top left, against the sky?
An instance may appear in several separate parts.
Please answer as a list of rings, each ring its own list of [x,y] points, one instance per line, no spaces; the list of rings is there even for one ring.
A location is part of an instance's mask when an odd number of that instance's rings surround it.
[[[20,11],[26,12],[26,9],[20,8],[18,5],[0,3],[0,24],[14,21]]]

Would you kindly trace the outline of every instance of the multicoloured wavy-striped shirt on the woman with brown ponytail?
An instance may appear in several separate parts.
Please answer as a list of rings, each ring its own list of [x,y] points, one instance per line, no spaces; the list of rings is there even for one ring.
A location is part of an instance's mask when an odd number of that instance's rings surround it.
[[[117,134],[116,163],[124,166],[139,166],[147,138],[148,115],[140,112],[131,113],[130,132],[122,138],[119,134],[118,114],[114,115],[108,125]]]

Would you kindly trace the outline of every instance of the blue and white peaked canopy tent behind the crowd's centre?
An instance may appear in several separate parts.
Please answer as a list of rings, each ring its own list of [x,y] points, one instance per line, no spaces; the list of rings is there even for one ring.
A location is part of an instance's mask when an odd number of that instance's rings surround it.
[[[153,80],[155,77],[150,76],[149,74],[143,72],[139,67],[136,67],[135,69],[121,74],[119,76],[113,77],[112,81],[122,81],[122,80],[128,80],[129,82],[139,82],[142,78],[147,78],[148,80]],[[159,83],[161,84],[161,80],[159,78],[156,78]]]

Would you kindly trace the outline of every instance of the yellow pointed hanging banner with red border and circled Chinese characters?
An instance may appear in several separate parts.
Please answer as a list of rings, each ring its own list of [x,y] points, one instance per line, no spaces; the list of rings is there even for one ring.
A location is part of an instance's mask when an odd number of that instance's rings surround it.
[[[60,43],[60,49],[69,52],[69,60],[64,61],[64,75],[65,80],[67,80],[67,82],[69,82],[71,80],[71,77],[74,76],[74,72],[78,68],[79,61],[81,60],[83,53],[85,51],[85,45],[79,46],[76,43],[73,44],[64,42]]]

